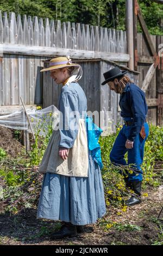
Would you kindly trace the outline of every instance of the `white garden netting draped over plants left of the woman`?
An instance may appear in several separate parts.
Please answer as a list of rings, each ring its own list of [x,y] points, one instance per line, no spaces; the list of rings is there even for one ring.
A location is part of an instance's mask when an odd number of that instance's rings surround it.
[[[26,111],[34,133],[37,129],[40,129],[39,134],[45,136],[48,126],[53,123],[53,127],[55,127],[59,122],[59,110],[54,105],[39,110],[26,109]],[[23,107],[21,111],[1,115],[0,125],[11,129],[28,130],[31,132]]]

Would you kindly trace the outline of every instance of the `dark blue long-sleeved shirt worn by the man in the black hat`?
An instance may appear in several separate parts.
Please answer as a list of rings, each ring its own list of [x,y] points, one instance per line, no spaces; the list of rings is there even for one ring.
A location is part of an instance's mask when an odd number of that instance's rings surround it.
[[[145,123],[148,106],[145,93],[134,83],[128,83],[120,96],[121,117],[124,120],[133,120],[128,139],[134,141]]]

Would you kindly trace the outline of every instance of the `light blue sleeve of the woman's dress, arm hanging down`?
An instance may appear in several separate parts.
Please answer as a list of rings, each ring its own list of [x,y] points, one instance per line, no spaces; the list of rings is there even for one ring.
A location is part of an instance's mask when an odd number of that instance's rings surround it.
[[[60,144],[59,148],[72,148],[78,135],[79,111],[78,95],[62,93],[60,98]]]

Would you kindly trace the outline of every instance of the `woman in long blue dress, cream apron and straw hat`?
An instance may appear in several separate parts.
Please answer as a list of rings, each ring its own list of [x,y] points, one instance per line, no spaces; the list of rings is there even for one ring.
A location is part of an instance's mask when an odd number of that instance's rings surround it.
[[[63,84],[59,129],[54,129],[39,166],[44,173],[37,218],[62,221],[52,239],[77,236],[83,225],[105,215],[98,137],[102,130],[87,117],[86,96],[77,81],[82,68],[70,57],[54,58],[51,77]],[[56,127],[55,127],[56,128]]]

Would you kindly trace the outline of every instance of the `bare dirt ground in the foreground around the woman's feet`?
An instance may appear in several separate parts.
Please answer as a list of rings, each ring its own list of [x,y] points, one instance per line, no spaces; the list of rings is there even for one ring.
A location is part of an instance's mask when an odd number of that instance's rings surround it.
[[[26,209],[17,215],[0,215],[1,245],[151,245],[158,241],[160,232],[156,217],[161,209],[158,188],[150,188],[143,193],[140,205],[133,206],[117,215],[117,209],[109,208],[108,213],[96,224],[85,226],[78,237],[50,240],[49,234],[59,222],[36,220],[36,209]],[[106,223],[116,222],[117,227],[104,230]],[[133,227],[133,228],[131,228]],[[160,242],[159,238],[159,242]]]

